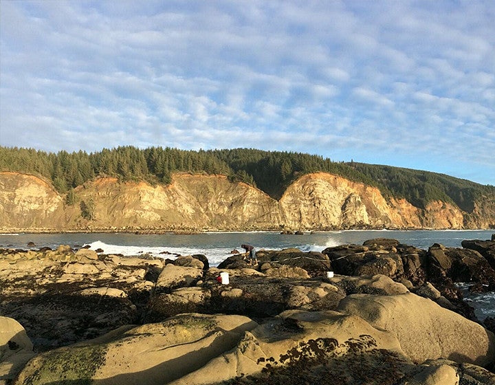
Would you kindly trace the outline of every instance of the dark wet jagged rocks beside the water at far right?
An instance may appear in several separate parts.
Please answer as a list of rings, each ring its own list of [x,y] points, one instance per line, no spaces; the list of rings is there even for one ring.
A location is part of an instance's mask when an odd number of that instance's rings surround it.
[[[477,242],[469,241],[465,245]],[[340,245],[327,248],[322,253],[329,256],[336,274],[384,274],[395,281],[409,282],[412,287],[430,283],[439,290],[442,303],[450,303],[452,309],[471,320],[476,320],[474,311],[463,301],[461,291],[454,283],[487,286],[495,283],[495,270],[489,261],[480,252],[467,248],[445,248],[434,244],[428,250],[422,250],[394,239],[371,239],[363,245]],[[485,255],[489,254],[485,252]]]

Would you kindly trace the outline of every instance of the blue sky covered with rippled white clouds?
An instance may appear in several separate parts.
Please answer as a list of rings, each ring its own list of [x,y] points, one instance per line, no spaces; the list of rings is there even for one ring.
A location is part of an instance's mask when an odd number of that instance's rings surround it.
[[[0,0],[0,144],[260,148],[495,185],[495,2]]]

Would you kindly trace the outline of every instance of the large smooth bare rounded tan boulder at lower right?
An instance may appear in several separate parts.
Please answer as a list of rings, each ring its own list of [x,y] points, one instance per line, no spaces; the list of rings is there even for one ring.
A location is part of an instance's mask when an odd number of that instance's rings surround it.
[[[414,362],[448,358],[487,366],[495,359],[492,332],[415,294],[353,294],[340,301],[338,311],[360,316],[373,327],[393,333]]]

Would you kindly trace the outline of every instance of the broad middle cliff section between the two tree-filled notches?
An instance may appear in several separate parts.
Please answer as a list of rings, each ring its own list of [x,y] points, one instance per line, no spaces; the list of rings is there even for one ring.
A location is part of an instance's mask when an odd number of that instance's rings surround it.
[[[70,208],[69,226],[163,228],[169,230],[256,230],[278,225],[278,202],[225,176],[179,174],[168,186],[97,179],[75,190],[94,200],[95,218],[84,221]]]

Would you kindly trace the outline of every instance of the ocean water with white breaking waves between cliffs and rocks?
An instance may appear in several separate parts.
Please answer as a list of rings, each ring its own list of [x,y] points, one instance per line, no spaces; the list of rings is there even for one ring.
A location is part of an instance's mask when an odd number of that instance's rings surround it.
[[[278,232],[205,232],[199,234],[133,234],[133,233],[61,233],[61,234],[0,234],[0,247],[27,250],[57,248],[70,245],[80,248],[89,245],[106,254],[126,256],[151,254],[170,258],[174,255],[204,254],[210,265],[216,266],[230,256],[232,250],[243,252],[241,244],[249,243],[257,249],[282,250],[298,248],[302,251],[321,252],[325,248],[347,243],[362,244],[373,238],[397,239],[401,243],[428,249],[434,243],[449,248],[460,248],[465,239],[491,239],[494,230],[342,230],[314,232],[302,235]],[[168,254],[164,254],[164,253]],[[171,255],[170,255],[171,254]],[[460,285],[465,298],[475,309],[478,319],[495,316],[495,293],[472,295],[467,292],[469,283]]]

